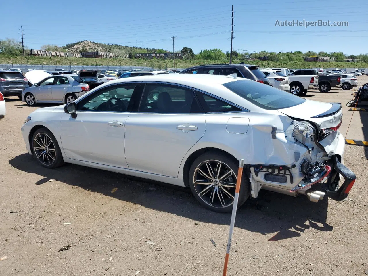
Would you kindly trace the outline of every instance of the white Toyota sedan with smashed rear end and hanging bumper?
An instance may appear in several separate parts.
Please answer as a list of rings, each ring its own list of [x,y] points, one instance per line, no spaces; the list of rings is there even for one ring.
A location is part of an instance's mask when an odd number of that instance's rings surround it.
[[[21,130],[44,167],[67,162],[189,186],[206,208],[227,212],[239,159],[239,206],[262,189],[346,198],[355,174],[343,165],[341,123],[340,104],[236,74],[166,74],[117,79],[40,108]]]

